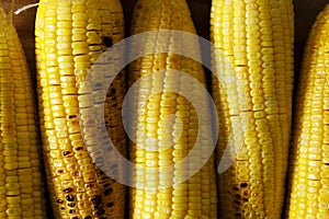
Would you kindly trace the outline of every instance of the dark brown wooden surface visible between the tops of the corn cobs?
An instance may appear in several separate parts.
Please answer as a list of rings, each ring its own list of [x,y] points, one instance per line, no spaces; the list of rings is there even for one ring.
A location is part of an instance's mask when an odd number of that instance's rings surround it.
[[[134,9],[134,3],[136,0],[122,0],[125,20],[126,20],[126,30],[129,27],[129,21],[132,18],[132,12]],[[7,9],[10,9],[11,1],[3,1]],[[13,9],[16,10],[20,7],[34,3],[37,0],[15,0]],[[191,13],[197,33],[200,36],[208,38],[209,30],[209,10],[211,10],[211,0],[188,0],[188,3],[191,8]],[[304,49],[304,44],[309,33],[309,28],[315,21],[316,15],[325,7],[326,3],[329,3],[329,0],[294,0],[295,4],[295,16],[296,16],[296,37],[295,37],[295,64],[296,64],[296,76],[300,65],[300,57]],[[14,25],[18,28],[18,33],[21,37],[21,42],[24,46],[25,53],[27,55],[27,60],[31,69],[34,71],[34,18],[35,18],[36,8],[29,9],[22,12],[19,15],[13,15]],[[128,32],[127,32],[128,33]]]

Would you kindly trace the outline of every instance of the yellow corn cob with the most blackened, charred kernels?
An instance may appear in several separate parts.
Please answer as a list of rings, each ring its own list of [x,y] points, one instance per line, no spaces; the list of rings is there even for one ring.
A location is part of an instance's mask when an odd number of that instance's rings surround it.
[[[88,105],[83,82],[99,56],[124,37],[118,0],[41,0],[35,24],[41,129],[47,182],[56,218],[124,218],[125,187],[95,162],[105,152],[79,125],[79,107]],[[121,73],[106,94],[105,123],[125,155],[121,118],[125,79]],[[98,122],[90,115],[93,124]],[[102,116],[102,115],[101,115]],[[81,131],[84,136],[82,137]],[[112,162],[115,163],[115,158]],[[120,165],[115,170],[122,173]]]

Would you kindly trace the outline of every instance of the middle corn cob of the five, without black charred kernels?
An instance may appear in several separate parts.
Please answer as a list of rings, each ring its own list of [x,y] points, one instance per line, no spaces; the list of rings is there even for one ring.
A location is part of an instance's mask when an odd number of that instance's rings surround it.
[[[132,20],[131,34],[147,31],[177,30],[195,34],[185,0],[139,0],[135,5]],[[217,218],[217,197],[215,183],[214,158],[197,171],[195,175],[182,183],[179,178],[192,169],[202,158],[192,157],[188,166],[180,165],[195,143],[196,135],[201,135],[201,150],[207,150],[212,141],[208,113],[202,115],[207,124],[202,124],[198,129],[201,115],[196,114],[192,103],[179,91],[189,87],[189,82],[177,71],[183,71],[197,79],[205,87],[203,68],[196,61],[177,55],[173,50],[186,54],[198,54],[197,43],[191,42],[189,47],[182,46],[172,35],[161,33],[146,37],[141,51],[155,51],[151,55],[135,60],[129,66],[129,84],[138,79],[136,106],[132,127],[136,131],[136,141],[131,142],[129,155],[136,163],[134,173],[135,188],[131,189],[131,218]],[[168,37],[168,38],[166,38]],[[183,38],[180,41],[184,41]],[[193,44],[194,43],[194,44]],[[169,53],[157,53],[157,48],[166,47]],[[161,50],[161,49],[158,49]],[[156,71],[164,70],[163,74]],[[152,93],[160,89],[161,92]],[[198,90],[189,90],[191,95],[197,96],[198,103],[204,96]],[[150,94],[150,95],[149,95]],[[140,104],[146,101],[145,105]],[[134,115],[135,115],[134,114]],[[172,118],[172,119],[171,119]],[[156,139],[155,141],[149,138]],[[151,148],[156,150],[151,150]],[[173,171],[166,168],[173,165]],[[158,170],[158,171],[151,171]]]

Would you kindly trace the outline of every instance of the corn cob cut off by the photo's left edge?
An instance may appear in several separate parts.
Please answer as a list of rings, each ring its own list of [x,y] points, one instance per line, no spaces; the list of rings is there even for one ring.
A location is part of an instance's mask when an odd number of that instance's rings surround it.
[[[45,218],[32,78],[10,16],[0,7],[0,218]]]

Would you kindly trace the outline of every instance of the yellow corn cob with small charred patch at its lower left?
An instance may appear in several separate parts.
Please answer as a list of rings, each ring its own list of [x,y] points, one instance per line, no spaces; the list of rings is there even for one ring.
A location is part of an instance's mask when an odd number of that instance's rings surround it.
[[[291,132],[293,90],[291,0],[213,0],[211,39],[218,110],[217,158],[232,142],[231,166],[218,175],[223,218],[280,218]],[[232,70],[227,67],[230,62]],[[241,136],[234,135],[238,127]]]

